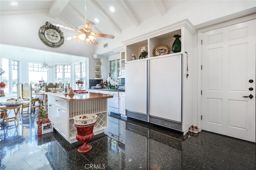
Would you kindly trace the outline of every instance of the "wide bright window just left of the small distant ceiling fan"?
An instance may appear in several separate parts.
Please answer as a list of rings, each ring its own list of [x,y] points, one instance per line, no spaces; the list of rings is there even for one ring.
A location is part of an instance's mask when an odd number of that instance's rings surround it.
[[[47,69],[42,69],[42,64],[28,63],[28,82],[32,84],[47,81]]]

